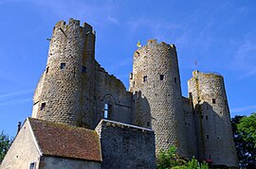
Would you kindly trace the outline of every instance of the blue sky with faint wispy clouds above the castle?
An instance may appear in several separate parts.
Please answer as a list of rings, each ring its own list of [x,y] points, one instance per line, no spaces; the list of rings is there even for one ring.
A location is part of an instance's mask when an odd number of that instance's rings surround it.
[[[15,136],[32,112],[53,26],[96,30],[96,59],[128,89],[137,41],[175,44],[182,93],[195,69],[225,78],[231,117],[256,111],[256,1],[0,0],[0,131]]]

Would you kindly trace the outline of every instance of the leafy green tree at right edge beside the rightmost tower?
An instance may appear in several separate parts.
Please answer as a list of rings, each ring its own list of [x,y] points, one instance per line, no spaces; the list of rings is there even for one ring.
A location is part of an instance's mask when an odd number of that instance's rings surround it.
[[[239,165],[256,168],[256,113],[231,119]]]

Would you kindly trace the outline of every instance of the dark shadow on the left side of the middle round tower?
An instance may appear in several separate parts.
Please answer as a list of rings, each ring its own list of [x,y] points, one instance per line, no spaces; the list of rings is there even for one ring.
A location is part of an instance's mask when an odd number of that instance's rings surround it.
[[[147,97],[141,94],[141,91],[136,92],[134,94],[133,102],[135,108],[133,125],[152,128],[152,120],[154,119],[152,119],[150,104]]]

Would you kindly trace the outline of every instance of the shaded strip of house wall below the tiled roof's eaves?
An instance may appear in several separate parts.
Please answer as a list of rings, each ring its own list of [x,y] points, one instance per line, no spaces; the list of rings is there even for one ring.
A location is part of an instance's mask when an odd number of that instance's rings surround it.
[[[41,158],[40,169],[101,169],[101,162],[81,161],[74,159],[65,159],[58,157],[45,156]]]

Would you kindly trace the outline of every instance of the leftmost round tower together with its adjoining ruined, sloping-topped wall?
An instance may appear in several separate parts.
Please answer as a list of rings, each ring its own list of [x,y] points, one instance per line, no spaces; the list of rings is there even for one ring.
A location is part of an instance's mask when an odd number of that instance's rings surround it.
[[[46,70],[33,98],[32,117],[66,125],[94,128],[112,106],[108,119],[132,121],[132,93],[95,60],[95,31],[70,19],[53,29]]]

